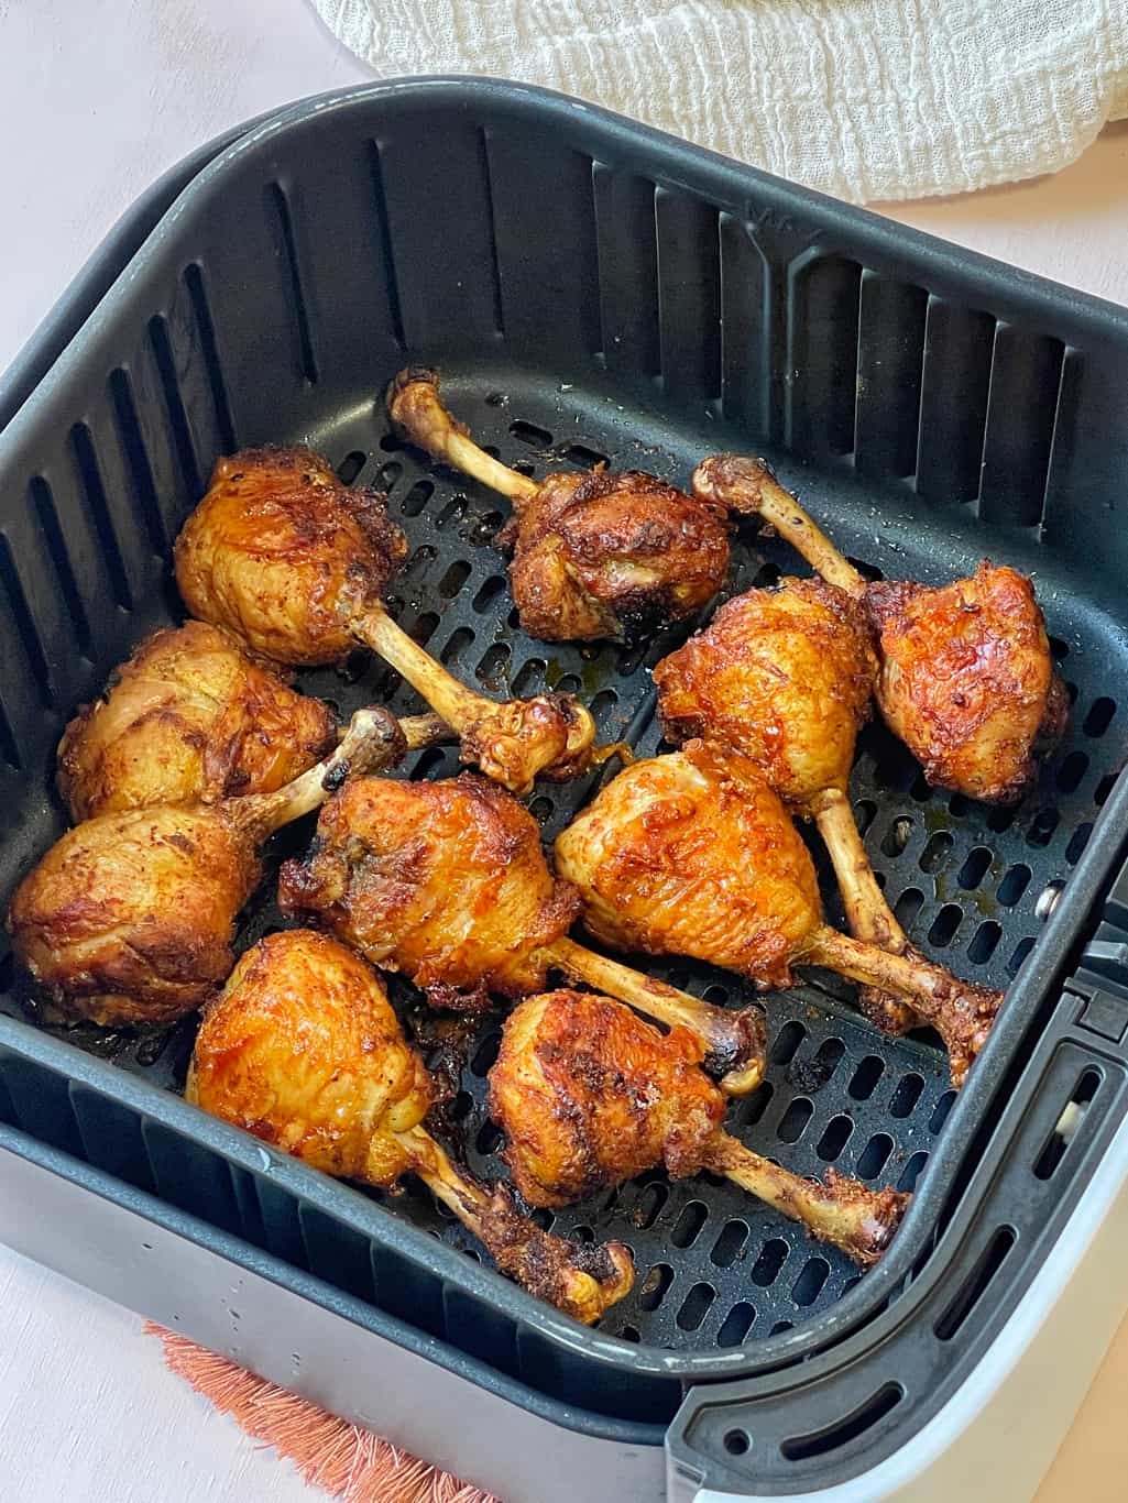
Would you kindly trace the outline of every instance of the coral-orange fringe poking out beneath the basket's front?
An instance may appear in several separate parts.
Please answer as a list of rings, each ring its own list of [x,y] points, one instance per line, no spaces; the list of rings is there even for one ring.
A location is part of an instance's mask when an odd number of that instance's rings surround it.
[[[257,1378],[227,1357],[146,1321],[168,1368],[230,1414],[248,1435],[272,1446],[302,1477],[341,1503],[498,1503],[480,1488],[337,1419],[308,1399]]]

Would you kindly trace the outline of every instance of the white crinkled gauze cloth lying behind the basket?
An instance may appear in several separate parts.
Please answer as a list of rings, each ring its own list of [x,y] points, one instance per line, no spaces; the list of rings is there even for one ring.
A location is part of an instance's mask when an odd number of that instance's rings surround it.
[[[381,77],[546,84],[863,203],[1056,171],[1128,116],[1128,0],[313,3]]]

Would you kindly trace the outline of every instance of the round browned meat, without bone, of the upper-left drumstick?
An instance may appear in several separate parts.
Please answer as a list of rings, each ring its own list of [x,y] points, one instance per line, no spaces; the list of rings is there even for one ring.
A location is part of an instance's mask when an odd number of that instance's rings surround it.
[[[302,448],[221,458],[173,552],[194,616],[293,666],[343,663],[350,622],[381,606],[406,556],[384,496]]]

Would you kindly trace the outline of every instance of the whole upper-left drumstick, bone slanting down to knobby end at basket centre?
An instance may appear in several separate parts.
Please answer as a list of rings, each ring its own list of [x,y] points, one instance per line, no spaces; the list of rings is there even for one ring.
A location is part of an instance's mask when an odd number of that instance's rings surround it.
[[[475,694],[396,625],[382,595],[408,553],[384,497],[347,487],[310,449],[245,449],[215,466],[176,540],[176,583],[202,621],[280,663],[378,652],[462,738],[462,758],[526,792],[591,761],[596,726],[572,694]]]

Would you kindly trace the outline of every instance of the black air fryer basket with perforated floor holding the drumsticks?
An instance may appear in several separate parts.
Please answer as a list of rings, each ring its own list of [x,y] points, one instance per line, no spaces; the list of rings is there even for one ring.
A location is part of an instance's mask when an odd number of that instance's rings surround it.
[[[985,553],[1033,574],[1072,723],[1008,810],[931,791],[881,726],[862,738],[851,795],[898,917],[957,972],[1009,986],[958,1099],[934,1039],[875,1034],[835,978],[767,998],[767,1082],[729,1127],[800,1172],[916,1189],[865,1279],[728,1181],[656,1172],[552,1222],[635,1250],[635,1291],[582,1330],[480,1267],[426,1195],[362,1195],[188,1108],[190,1024],[138,1042],[29,1022],[11,956],[0,1147],[165,1207],[305,1297],[335,1290],[352,1321],[412,1332],[572,1434],[653,1455],[680,1411],[674,1488],[851,1476],[975,1363],[1122,1115],[1116,893],[1093,935],[1128,806],[1128,314],[517,86],[350,90],[214,150],[126,221],[0,400],[5,894],[62,830],[65,720],[179,619],[171,541],[242,445],[307,442],[388,493],[412,544],[393,612],[456,673],[498,696],[575,690],[602,739],[659,747],[648,667],[678,636],[627,651],[520,633],[493,547],[504,505],[388,433],[381,394],[409,361],[438,365],[475,436],[528,473],[608,460],[684,484],[707,452],[764,452],[872,574],[942,582]],[[728,594],[785,571],[799,561],[749,526]],[[379,663],[301,687],[343,714],[418,709]],[[403,776],[454,765],[433,750]],[[593,786],[538,786],[546,839]],[[271,888],[242,944],[281,921]],[[644,963],[746,999],[707,966]],[[484,1111],[498,1036],[493,1016],[447,1123],[486,1175],[504,1172]],[[602,1495],[588,1480],[570,1495]]]

